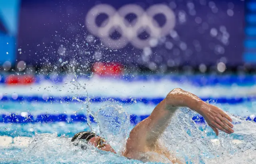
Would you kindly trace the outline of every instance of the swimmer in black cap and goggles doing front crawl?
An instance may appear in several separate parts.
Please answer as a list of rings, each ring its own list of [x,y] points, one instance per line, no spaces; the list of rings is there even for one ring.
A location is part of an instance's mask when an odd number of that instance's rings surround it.
[[[233,125],[231,124],[232,119],[220,108],[202,101],[190,92],[176,88],[154,108],[148,118],[138,123],[132,129],[126,141],[126,147],[122,156],[143,162],[162,162],[158,158],[164,156],[172,163],[181,163],[174,155],[168,152],[167,148],[160,145],[158,142],[158,138],[163,134],[172,116],[174,116],[174,113],[179,107],[188,107],[202,115],[217,136],[219,130],[228,134],[234,132],[234,130],[232,130]],[[77,139],[84,139],[100,150],[116,154],[114,149],[104,138],[93,132],[79,132],[74,135],[71,141],[74,142]],[[146,155],[148,153],[151,154]]]

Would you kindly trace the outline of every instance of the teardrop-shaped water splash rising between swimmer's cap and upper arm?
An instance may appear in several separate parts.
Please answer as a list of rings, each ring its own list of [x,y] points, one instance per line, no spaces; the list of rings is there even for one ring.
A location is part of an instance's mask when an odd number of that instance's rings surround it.
[[[100,136],[106,138],[108,142],[110,142],[116,152],[122,152],[122,148],[124,148],[125,144],[124,141],[130,127],[129,114],[124,112],[122,106],[112,100],[107,101],[99,110],[96,111],[96,113],[94,113],[90,108],[91,98],[88,96],[86,84],[80,84],[77,81],[75,72],[74,76],[75,78],[72,81],[72,84],[76,87],[76,90],[85,91],[86,100],[80,100],[79,95],[73,96],[72,100],[82,102],[82,108],[80,110],[84,110],[84,105],[86,104],[86,111],[84,112],[86,113],[86,122],[90,131],[99,132]],[[96,122],[96,128],[92,126],[92,122],[90,120],[91,117],[94,119],[94,122]]]

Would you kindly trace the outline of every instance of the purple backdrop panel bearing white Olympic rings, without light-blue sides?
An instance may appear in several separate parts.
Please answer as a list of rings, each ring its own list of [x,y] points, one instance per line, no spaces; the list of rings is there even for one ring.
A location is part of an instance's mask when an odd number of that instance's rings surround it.
[[[136,10],[141,15],[122,17],[120,14],[127,12],[124,8],[111,16],[113,9],[110,8],[109,17],[100,14],[93,20],[97,11],[103,11],[99,4],[108,4],[115,10],[136,4],[127,10]],[[155,4],[164,7],[149,11]],[[88,15],[92,8],[95,10]],[[155,11],[167,11],[167,18],[163,14],[152,14]],[[136,18],[141,19],[136,22]],[[90,21],[95,21],[97,26],[88,27],[86,22]],[[148,27],[143,26],[143,21],[148,21]],[[168,32],[161,28],[167,21]],[[155,26],[156,23],[159,26]],[[109,24],[110,32],[106,30]],[[98,26],[106,28],[99,31]],[[202,63],[215,65],[220,61],[236,66],[243,63],[243,40],[244,2],[240,0],[22,0],[18,38],[22,54],[17,54],[17,58],[33,65],[46,60],[58,62],[61,58],[62,62],[70,59],[82,63],[116,61],[152,69]],[[114,46],[118,49],[111,48]]]

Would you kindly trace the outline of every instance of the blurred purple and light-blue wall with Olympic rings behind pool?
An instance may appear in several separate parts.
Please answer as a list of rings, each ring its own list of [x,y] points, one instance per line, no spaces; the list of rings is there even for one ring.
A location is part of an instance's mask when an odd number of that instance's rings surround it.
[[[253,0],[1,1],[1,70],[58,72],[67,60],[84,73],[96,62],[132,72],[248,72],[254,9]]]

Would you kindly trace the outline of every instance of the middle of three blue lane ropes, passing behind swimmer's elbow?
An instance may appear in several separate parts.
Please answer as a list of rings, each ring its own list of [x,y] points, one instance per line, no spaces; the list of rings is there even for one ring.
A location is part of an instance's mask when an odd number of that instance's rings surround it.
[[[79,100],[85,101],[87,97],[78,97]],[[144,104],[158,104],[164,98],[114,98],[114,97],[94,97],[90,98],[91,102],[106,102],[106,101],[115,101],[121,102],[125,104],[129,103],[136,103],[142,102]],[[256,96],[250,97],[231,97],[231,98],[202,98],[203,101],[211,100],[210,102],[217,102],[217,103],[228,103],[228,104],[240,104],[244,102],[252,102],[256,101]],[[10,97],[10,96],[1,96],[0,95],[0,102],[78,102],[77,100],[73,99],[72,96],[18,96],[17,94]]]

